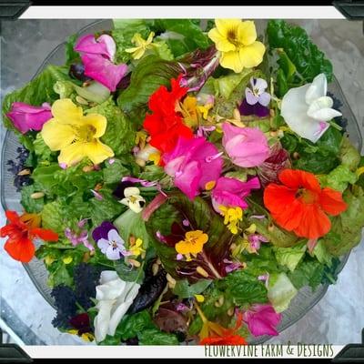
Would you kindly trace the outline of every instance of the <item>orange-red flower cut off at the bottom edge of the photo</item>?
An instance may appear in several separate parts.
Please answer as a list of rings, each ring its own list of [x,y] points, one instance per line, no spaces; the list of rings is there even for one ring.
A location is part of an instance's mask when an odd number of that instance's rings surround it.
[[[215,322],[207,321],[204,317],[205,322],[200,332],[201,336],[204,337],[206,333],[210,335],[200,340],[200,345],[247,345],[247,341],[237,334],[243,323],[243,314],[238,313],[237,323],[233,329],[225,329]]]

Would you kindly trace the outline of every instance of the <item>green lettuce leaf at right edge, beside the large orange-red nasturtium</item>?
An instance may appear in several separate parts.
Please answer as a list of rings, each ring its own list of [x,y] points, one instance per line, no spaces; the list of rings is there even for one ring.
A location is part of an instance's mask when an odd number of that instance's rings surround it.
[[[353,186],[343,193],[348,204],[346,211],[337,217],[331,217],[331,230],[322,238],[329,253],[335,257],[342,256],[357,246],[364,227],[364,192],[359,186]]]

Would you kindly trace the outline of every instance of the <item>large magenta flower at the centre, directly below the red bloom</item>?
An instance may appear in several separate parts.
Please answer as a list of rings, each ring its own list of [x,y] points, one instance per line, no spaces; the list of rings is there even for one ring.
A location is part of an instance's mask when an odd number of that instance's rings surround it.
[[[179,136],[176,147],[163,155],[167,175],[189,199],[195,198],[208,182],[216,183],[223,161],[217,147],[204,137]]]

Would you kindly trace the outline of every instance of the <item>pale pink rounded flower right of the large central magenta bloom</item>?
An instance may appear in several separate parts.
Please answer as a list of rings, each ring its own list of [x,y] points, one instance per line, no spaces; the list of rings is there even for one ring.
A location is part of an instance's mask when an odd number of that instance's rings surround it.
[[[267,137],[258,127],[222,125],[222,144],[231,161],[239,167],[256,167],[269,156]]]

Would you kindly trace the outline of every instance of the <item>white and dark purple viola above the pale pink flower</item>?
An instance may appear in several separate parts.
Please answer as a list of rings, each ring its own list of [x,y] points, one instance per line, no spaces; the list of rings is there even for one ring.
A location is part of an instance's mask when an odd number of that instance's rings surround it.
[[[256,115],[265,117],[269,115],[270,95],[266,92],[267,81],[263,78],[250,78],[250,87],[245,89],[245,99],[239,106],[241,115]]]

